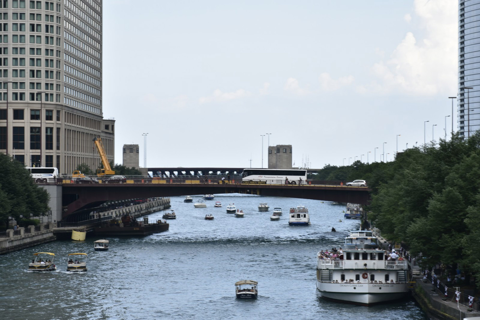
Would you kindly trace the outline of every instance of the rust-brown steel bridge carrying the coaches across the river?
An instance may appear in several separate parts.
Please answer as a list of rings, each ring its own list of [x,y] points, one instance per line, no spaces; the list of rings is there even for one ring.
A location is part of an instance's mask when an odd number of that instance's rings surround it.
[[[128,178],[127,183],[71,183],[59,178],[62,187],[62,218],[67,215],[94,208],[105,201],[135,198],[171,197],[194,194],[243,193],[264,196],[313,199],[323,201],[367,204],[370,189],[347,187],[341,181],[303,181],[301,185],[241,183],[232,179],[229,183],[216,179],[199,178]],[[100,180],[101,182],[101,180]],[[66,210],[65,210],[66,209]]]

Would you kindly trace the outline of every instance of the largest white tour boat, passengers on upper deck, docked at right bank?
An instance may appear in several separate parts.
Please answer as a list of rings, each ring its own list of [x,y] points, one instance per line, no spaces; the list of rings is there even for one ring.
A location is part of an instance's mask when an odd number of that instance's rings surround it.
[[[408,263],[403,258],[385,260],[387,252],[378,249],[345,249],[338,255],[318,252],[317,289],[322,297],[368,306],[408,294]]]

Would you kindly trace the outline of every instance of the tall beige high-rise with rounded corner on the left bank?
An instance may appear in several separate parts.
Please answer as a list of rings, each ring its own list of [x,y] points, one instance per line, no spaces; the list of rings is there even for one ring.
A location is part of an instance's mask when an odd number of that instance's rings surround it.
[[[102,1],[0,1],[0,152],[71,173],[114,156],[102,112]]]

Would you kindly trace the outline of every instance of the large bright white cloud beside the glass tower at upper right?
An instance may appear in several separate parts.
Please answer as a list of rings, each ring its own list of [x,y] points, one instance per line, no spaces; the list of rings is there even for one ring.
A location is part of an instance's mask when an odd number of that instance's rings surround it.
[[[388,59],[372,68],[375,80],[357,92],[435,95],[456,90],[457,7],[451,0],[414,1],[414,12],[425,38],[408,32]],[[408,22],[411,16],[407,14]],[[388,56],[388,55],[387,55]]]

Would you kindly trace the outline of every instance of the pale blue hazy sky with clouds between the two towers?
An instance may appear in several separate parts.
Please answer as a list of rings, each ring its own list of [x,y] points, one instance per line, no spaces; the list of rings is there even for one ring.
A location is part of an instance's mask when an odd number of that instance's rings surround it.
[[[452,0],[104,0],[115,163],[143,133],[147,167],[267,167],[268,136],[300,167],[393,160],[452,130],[457,28]]]

